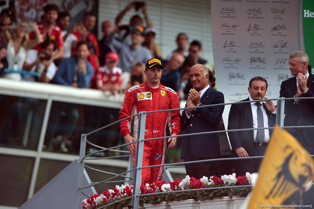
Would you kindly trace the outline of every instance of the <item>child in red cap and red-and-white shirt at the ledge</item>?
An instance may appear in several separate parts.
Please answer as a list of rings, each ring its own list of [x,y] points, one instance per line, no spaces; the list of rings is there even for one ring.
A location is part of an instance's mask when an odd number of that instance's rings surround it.
[[[119,92],[122,83],[122,69],[116,67],[119,56],[116,52],[108,52],[105,58],[105,65],[96,71],[96,87],[103,91],[111,91],[112,94]]]

